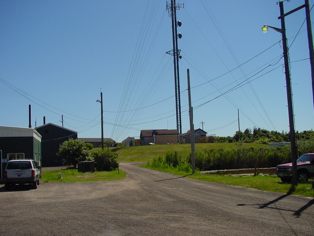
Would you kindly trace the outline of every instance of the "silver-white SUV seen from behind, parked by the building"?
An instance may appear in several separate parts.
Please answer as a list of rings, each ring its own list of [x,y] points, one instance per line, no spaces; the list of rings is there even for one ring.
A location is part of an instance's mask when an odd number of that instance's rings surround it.
[[[40,168],[40,164],[37,166],[37,163],[34,160],[10,160],[4,171],[5,189],[9,190],[11,185],[17,183],[29,183],[32,185],[33,189],[36,189],[41,178]]]

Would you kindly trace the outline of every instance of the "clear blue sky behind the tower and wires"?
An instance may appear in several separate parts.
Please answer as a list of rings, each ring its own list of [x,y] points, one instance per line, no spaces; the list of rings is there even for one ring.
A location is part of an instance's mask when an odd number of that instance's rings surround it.
[[[177,11],[183,133],[187,69],[195,128],[203,121],[208,134],[233,136],[239,109],[241,131],[288,132],[281,34],[261,30],[281,27],[277,1],[177,1],[184,3]],[[302,4],[285,1],[285,12]],[[286,17],[298,131],[314,126],[304,20],[305,9]],[[176,129],[166,1],[0,0],[0,29],[0,125],[27,127],[30,104],[32,127],[44,116],[62,125],[63,115],[64,127],[79,138],[101,137],[102,91],[106,138],[121,142],[142,129]]]

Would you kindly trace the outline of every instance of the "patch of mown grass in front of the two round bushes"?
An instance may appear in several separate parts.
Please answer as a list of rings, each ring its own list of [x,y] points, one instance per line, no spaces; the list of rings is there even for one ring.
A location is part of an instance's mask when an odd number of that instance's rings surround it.
[[[58,173],[62,178],[58,178]],[[93,181],[113,181],[121,180],[126,177],[123,171],[95,171],[81,173],[78,169],[67,169],[59,171],[43,171],[41,181],[43,182],[93,182]]]

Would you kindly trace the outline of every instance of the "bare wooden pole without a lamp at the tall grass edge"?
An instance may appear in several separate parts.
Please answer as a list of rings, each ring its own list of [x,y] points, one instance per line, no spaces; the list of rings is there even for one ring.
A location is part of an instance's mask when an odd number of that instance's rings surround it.
[[[194,137],[194,124],[193,124],[193,107],[191,103],[191,87],[190,87],[190,70],[187,69],[187,93],[188,93],[188,111],[190,117],[190,139],[191,139],[191,164],[192,174],[195,173],[195,137]]]

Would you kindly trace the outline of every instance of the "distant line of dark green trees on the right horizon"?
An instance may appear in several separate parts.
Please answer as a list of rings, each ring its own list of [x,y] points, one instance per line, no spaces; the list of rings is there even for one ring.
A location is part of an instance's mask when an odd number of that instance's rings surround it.
[[[313,130],[305,130],[302,132],[295,132],[297,140],[311,140],[314,138]],[[241,143],[258,143],[258,144],[268,144],[268,143],[282,143],[290,142],[290,133],[282,131],[269,131],[266,129],[261,129],[254,127],[253,130],[247,128],[242,131],[236,131],[233,137],[216,137],[216,143],[228,143],[228,142],[241,142]]]

